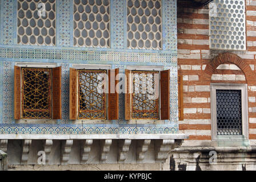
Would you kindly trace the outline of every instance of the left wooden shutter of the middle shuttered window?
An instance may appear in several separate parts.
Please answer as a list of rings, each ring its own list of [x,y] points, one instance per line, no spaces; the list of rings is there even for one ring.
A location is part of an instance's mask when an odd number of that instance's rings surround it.
[[[69,119],[77,119],[77,69],[69,68]]]

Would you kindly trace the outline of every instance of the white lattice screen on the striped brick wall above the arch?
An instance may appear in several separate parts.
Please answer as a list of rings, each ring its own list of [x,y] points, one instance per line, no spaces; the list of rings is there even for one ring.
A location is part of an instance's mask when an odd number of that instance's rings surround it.
[[[211,5],[210,49],[245,50],[245,0],[214,0]]]

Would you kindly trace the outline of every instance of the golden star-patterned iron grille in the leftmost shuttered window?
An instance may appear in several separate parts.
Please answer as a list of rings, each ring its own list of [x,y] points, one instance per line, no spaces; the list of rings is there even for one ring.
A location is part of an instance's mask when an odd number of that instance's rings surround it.
[[[51,69],[22,68],[22,118],[51,118]]]

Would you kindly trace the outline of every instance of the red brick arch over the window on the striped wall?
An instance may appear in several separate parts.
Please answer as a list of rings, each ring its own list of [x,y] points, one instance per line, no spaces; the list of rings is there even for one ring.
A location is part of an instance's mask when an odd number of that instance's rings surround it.
[[[256,75],[251,70],[251,67],[243,59],[241,59],[241,57],[229,52],[220,53],[206,65],[205,71],[202,75],[203,82],[210,84],[211,75],[213,75],[218,65],[224,63],[233,63],[237,65],[245,74],[247,84],[256,84]]]

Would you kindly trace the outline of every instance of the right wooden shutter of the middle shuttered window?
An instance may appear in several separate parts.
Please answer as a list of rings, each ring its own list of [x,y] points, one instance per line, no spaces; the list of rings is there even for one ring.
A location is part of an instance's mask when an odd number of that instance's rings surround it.
[[[108,98],[108,119],[116,120],[118,119],[118,112],[119,112],[119,97],[118,92],[115,90],[115,86],[118,85],[118,74],[119,68],[117,69],[110,69],[109,70],[109,98]],[[115,78],[117,77],[117,80]],[[117,87],[118,88],[118,87]]]

